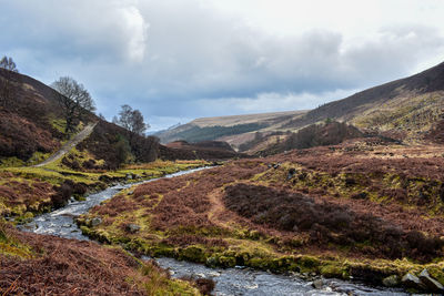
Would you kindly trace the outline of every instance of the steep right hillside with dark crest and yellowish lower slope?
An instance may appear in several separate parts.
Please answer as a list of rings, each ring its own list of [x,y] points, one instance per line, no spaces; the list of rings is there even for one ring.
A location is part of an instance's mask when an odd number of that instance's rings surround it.
[[[287,129],[326,119],[351,122],[360,129],[402,140],[424,139],[443,114],[444,63],[324,104],[285,124]]]

